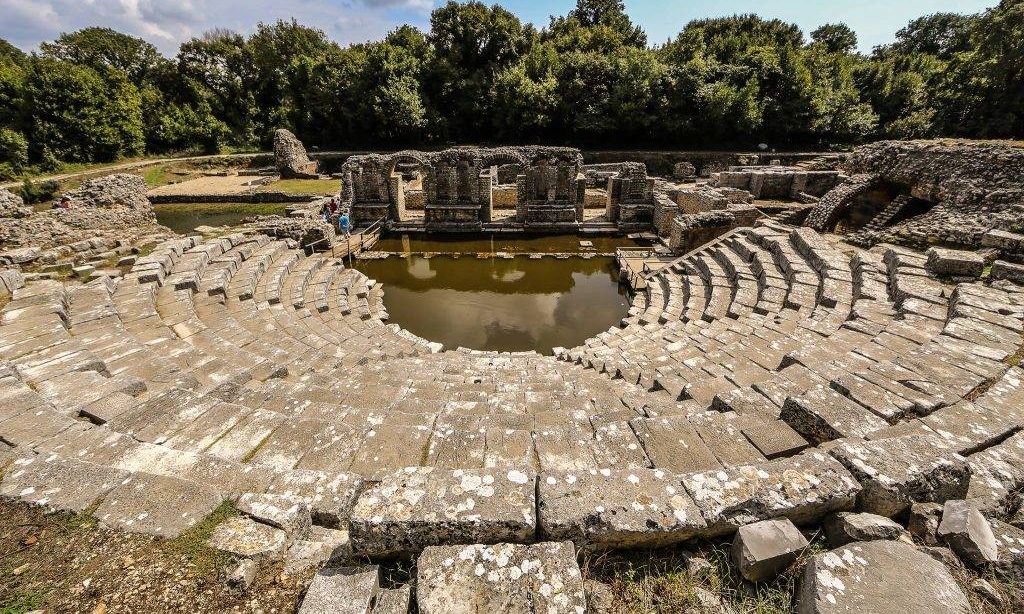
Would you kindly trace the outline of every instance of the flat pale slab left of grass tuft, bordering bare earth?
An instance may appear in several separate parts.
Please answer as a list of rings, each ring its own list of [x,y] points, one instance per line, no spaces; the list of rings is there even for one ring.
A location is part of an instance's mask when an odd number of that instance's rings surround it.
[[[115,529],[170,539],[194,527],[222,500],[198,482],[139,473],[118,484],[93,516]]]

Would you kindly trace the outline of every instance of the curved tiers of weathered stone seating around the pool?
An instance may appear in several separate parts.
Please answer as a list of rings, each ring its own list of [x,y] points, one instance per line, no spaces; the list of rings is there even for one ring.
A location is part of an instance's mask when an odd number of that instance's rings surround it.
[[[386,324],[382,293],[244,235],[15,291],[0,496],[161,536],[286,496],[391,557],[665,545],[951,497],[998,517],[1024,485],[1024,292],[949,286],[912,252],[740,229],[561,360],[441,352]]]

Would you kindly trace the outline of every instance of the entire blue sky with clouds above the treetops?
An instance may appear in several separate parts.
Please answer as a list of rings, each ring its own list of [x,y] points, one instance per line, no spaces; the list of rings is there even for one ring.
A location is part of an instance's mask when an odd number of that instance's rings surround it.
[[[487,0],[492,2],[493,0]],[[652,43],[677,34],[693,18],[753,12],[798,24],[809,33],[844,21],[860,48],[893,40],[910,19],[937,11],[974,13],[997,0],[626,0],[633,20]],[[260,21],[295,17],[321,28],[342,43],[380,38],[400,24],[425,28],[441,0],[0,0],[0,38],[24,49],[52,40],[60,32],[108,26],[141,36],[166,54],[211,28],[251,32]],[[527,21],[544,26],[565,14],[575,0],[498,0]]]

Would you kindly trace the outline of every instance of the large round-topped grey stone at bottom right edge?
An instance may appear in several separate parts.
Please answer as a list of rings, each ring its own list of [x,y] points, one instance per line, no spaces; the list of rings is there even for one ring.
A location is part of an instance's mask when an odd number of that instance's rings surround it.
[[[902,541],[857,541],[804,567],[798,614],[968,614],[945,565]]]

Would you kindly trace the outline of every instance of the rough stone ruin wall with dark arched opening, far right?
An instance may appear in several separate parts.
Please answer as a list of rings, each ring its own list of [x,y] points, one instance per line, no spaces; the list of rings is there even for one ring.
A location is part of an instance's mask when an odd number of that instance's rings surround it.
[[[898,186],[926,202],[922,215],[870,232],[866,244],[976,247],[989,230],[1024,227],[1024,147],[947,140],[881,141],[858,147],[847,162],[854,175],[825,195],[807,225],[831,230],[858,192]]]

